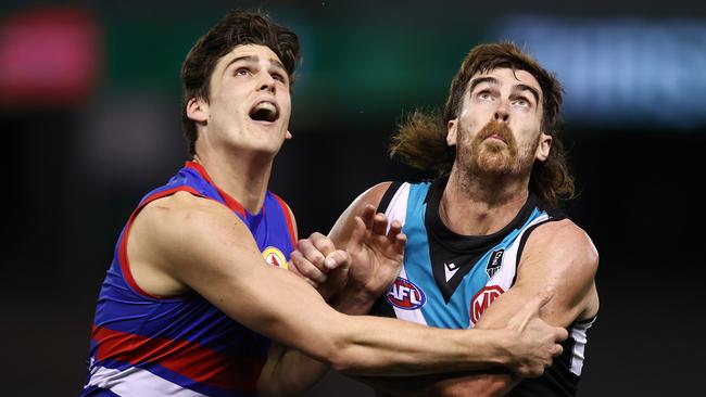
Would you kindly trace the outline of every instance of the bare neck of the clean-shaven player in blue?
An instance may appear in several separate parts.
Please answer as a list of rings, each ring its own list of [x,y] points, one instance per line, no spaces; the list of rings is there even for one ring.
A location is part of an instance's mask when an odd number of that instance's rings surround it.
[[[200,155],[201,164],[218,189],[237,200],[250,214],[257,214],[265,201],[273,161],[262,156]]]

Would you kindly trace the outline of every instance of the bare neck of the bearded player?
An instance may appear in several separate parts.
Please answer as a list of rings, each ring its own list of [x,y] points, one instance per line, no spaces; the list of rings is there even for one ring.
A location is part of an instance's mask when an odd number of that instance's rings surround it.
[[[452,231],[464,235],[492,234],[509,223],[529,195],[529,178],[472,178],[455,167],[439,204],[439,215]]]

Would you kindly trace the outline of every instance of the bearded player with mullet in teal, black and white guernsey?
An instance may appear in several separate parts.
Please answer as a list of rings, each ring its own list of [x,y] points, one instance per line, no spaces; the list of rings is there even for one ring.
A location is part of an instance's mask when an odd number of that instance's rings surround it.
[[[373,311],[450,329],[495,329],[538,291],[553,298],[541,315],[569,329],[564,354],[545,374],[506,371],[416,379],[367,379],[404,396],[572,396],[587,330],[595,320],[598,256],[589,236],[560,210],[573,179],[556,136],[559,82],[513,43],[474,48],[454,77],[443,117],[414,113],[393,138],[391,155],[436,171],[432,182],[381,183],[363,193],[329,234],[300,244],[300,272],[327,285],[324,252],[350,245],[353,216],[376,206],[403,223],[404,265]],[[348,289],[370,282],[361,264]],[[335,298],[336,299],[336,298]],[[333,300],[335,300],[333,299]],[[358,305],[364,305],[358,302]],[[367,302],[367,305],[373,305]]]

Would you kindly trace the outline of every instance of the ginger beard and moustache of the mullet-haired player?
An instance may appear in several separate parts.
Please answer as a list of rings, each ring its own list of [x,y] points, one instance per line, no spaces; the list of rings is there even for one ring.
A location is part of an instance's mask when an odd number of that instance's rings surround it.
[[[521,175],[531,169],[539,140],[520,148],[509,126],[495,120],[472,138],[462,126],[458,128],[463,144],[456,148],[456,158],[462,168],[486,176]]]

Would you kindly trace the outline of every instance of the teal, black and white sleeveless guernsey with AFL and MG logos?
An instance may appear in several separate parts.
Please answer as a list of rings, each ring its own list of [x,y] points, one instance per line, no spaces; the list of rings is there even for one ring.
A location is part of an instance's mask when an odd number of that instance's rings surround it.
[[[449,230],[439,217],[446,179],[433,183],[392,183],[379,212],[403,223],[404,264],[390,291],[375,305],[378,316],[437,328],[472,328],[497,296],[515,283],[527,238],[538,226],[565,216],[544,208],[530,194],[501,231],[467,236]],[[541,377],[525,380],[510,396],[573,396],[583,364],[587,330],[594,319],[575,322],[564,354]]]

